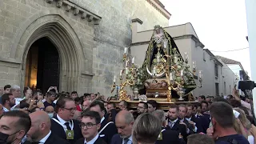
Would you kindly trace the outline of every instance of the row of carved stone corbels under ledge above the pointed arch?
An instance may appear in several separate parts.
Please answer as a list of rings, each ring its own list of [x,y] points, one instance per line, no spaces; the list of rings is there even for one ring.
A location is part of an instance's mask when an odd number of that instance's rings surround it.
[[[46,2],[53,4],[56,2],[56,7],[64,8],[67,12],[73,13],[75,16],[80,16],[82,19],[87,20],[88,22],[94,22],[94,25],[99,25],[101,21],[101,17],[97,14],[93,14],[89,10],[78,6],[74,2],[70,2],[70,0],[46,0]]]

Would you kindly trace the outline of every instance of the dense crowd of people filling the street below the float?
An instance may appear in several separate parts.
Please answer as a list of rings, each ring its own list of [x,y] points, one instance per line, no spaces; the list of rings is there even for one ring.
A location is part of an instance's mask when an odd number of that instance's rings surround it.
[[[254,144],[251,99],[238,91],[169,110],[158,102],[111,102],[101,94],[4,86],[0,98],[0,144]],[[116,106],[117,105],[117,106]]]

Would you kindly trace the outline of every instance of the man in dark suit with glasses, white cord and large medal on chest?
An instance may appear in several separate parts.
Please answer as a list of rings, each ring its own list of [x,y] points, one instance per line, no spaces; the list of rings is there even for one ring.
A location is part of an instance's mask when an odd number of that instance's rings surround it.
[[[76,106],[72,98],[60,98],[56,104],[56,116],[51,119],[50,130],[71,144],[82,138],[80,122],[72,119]]]

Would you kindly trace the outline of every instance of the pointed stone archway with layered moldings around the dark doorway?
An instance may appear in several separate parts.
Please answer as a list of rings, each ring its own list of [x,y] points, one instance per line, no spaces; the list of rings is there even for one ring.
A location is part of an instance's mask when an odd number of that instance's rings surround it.
[[[58,50],[60,59],[59,90],[78,90],[81,74],[89,75],[92,78],[93,74],[91,74],[90,70],[87,73],[84,70],[86,66],[92,64],[84,57],[78,35],[70,23],[62,18],[61,15],[37,15],[33,22],[31,20],[27,22],[27,27],[19,34],[16,39],[18,42],[14,43],[10,51],[10,58],[20,59],[22,62],[20,73],[21,87],[24,86],[25,82],[26,58],[30,46],[40,38],[48,38]]]

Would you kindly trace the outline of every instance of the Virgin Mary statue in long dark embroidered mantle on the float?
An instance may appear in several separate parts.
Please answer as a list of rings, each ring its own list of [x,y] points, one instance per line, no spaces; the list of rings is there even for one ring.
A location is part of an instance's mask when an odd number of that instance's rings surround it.
[[[154,32],[150,39],[148,49],[146,50],[146,57],[142,67],[140,68],[140,71],[143,73],[143,78],[141,79],[142,82],[152,79],[152,75],[156,75],[157,78],[160,78],[160,81],[163,80],[162,82],[164,82],[164,79],[166,78],[166,67],[161,68],[159,66],[163,65],[158,65],[158,63],[167,63],[168,66],[172,66],[175,64],[174,56],[179,58],[179,62],[184,62],[178,47],[176,46],[173,38],[170,37],[170,34],[163,30],[161,26],[154,26]],[[157,66],[158,68],[156,69]],[[171,71],[172,70],[169,67],[168,72],[170,73]],[[186,83],[184,84],[185,94],[189,93],[191,90],[194,90],[196,87],[192,75],[187,73],[186,79]],[[145,83],[146,89],[147,87],[150,87],[148,84],[149,83]],[[172,90],[171,93],[174,98],[175,95],[178,97],[174,90]]]

